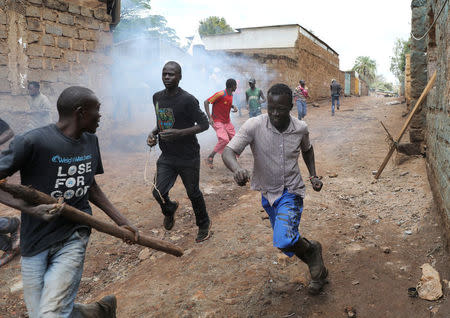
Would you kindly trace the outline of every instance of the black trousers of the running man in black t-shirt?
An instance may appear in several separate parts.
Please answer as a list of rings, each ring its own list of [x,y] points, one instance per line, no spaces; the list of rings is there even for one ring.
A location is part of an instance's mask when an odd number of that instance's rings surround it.
[[[189,200],[191,200],[197,226],[205,226],[209,222],[209,217],[206,212],[205,199],[199,187],[200,158],[190,162],[178,162],[178,160],[159,157],[156,163],[156,188],[153,189],[153,196],[161,206],[162,213],[164,215],[173,215],[174,213],[174,203],[170,201],[169,191],[178,176],[181,177]]]

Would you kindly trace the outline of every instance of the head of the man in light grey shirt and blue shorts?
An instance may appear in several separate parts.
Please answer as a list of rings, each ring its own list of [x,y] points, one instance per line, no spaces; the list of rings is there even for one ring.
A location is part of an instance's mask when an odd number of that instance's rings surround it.
[[[270,123],[283,131],[290,122],[292,90],[285,84],[275,84],[267,92],[267,114]]]

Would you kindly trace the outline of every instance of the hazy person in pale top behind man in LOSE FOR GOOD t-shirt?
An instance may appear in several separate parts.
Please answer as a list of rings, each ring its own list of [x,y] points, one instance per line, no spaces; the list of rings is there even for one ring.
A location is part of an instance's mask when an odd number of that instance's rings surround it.
[[[28,83],[28,93],[30,94],[28,103],[31,119],[27,130],[45,126],[52,122],[50,101],[47,96],[40,92],[40,88],[38,82]]]

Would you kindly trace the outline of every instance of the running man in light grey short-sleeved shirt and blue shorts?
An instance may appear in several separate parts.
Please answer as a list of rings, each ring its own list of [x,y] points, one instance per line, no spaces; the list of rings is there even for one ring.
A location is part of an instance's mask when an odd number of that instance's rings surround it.
[[[322,246],[301,237],[298,231],[303,211],[305,184],[298,166],[302,152],[315,191],[322,189],[316,176],[314,150],[304,121],[290,116],[292,91],[284,84],[272,86],[268,93],[267,114],[250,118],[225,148],[222,158],[243,186],[250,174],[236,160],[247,145],[254,157],[251,186],[261,191],[262,205],[273,228],[273,245],[289,257],[296,255],[311,273],[308,291],[318,294],[326,283],[328,271],[322,260]]]

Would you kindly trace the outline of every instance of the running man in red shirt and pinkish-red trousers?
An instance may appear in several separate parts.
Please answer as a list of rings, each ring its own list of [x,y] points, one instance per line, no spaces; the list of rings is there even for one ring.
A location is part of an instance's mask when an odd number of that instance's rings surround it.
[[[236,81],[232,78],[228,79],[225,89],[215,93],[213,96],[205,100],[205,112],[208,116],[209,124],[214,128],[217,134],[217,144],[214,150],[206,159],[206,163],[212,169],[214,156],[216,153],[222,154],[225,146],[235,135],[234,126],[230,121],[230,110],[237,112],[238,109],[233,105],[233,92],[236,90]],[[212,113],[209,112],[209,104],[212,104]]]

